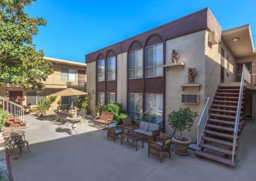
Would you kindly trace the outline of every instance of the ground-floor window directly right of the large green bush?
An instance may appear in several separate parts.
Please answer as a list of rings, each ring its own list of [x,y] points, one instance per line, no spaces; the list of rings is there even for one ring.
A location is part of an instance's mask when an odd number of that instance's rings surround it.
[[[143,94],[141,93],[131,93],[129,94],[129,117],[131,120],[136,121],[142,115],[143,106]]]

